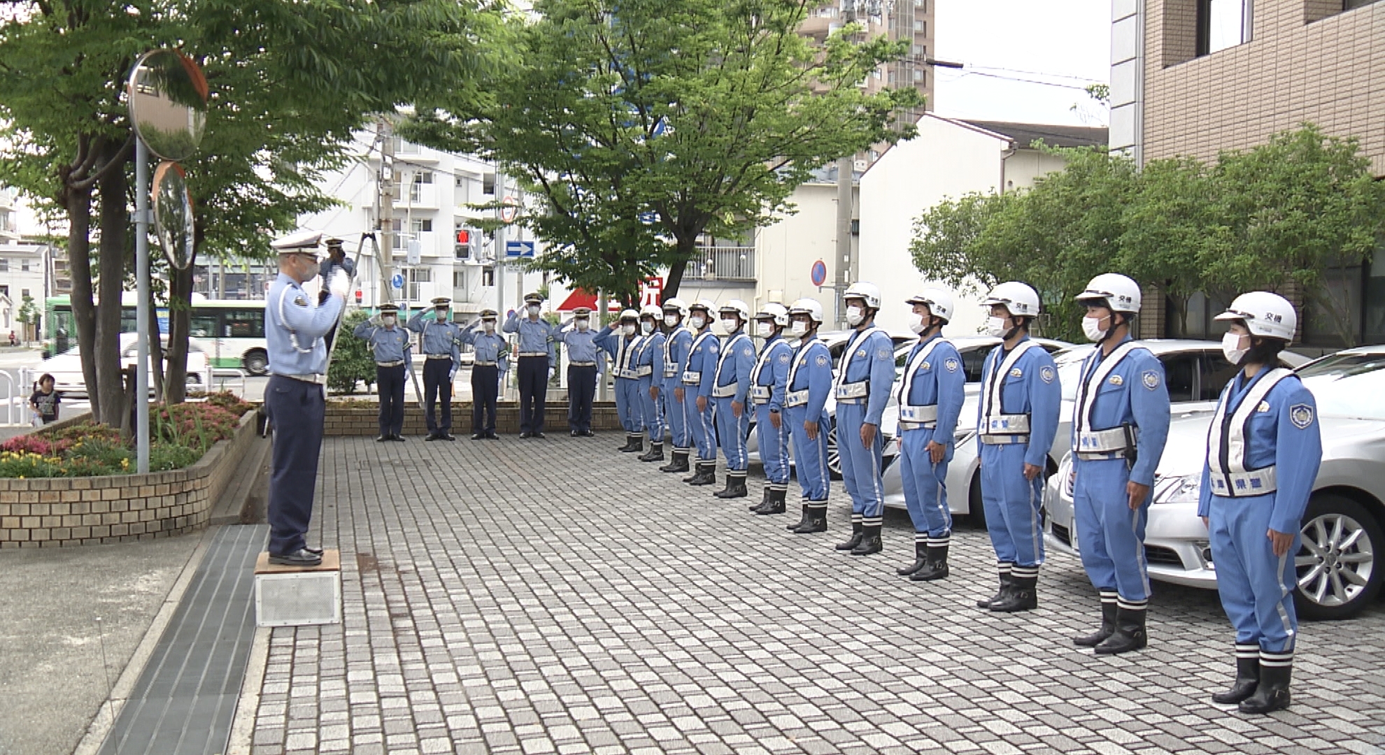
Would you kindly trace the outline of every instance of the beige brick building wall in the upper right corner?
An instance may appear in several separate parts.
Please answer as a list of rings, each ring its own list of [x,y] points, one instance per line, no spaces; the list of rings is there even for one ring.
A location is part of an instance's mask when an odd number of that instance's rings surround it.
[[[1216,157],[1312,121],[1385,176],[1385,3],[1256,0],[1252,40],[1194,57],[1197,0],[1147,0],[1144,159]]]

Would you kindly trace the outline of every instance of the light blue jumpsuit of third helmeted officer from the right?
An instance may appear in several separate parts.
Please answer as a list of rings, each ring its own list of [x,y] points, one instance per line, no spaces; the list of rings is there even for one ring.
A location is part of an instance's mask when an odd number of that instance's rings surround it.
[[[1029,342],[1025,335],[1015,349]],[[1025,479],[1025,464],[1046,470],[1048,449],[1058,434],[1058,411],[1062,388],[1053,357],[1043,346],[1028,348],[1017,362],[999,374],[1010,356],[1004,346],[992,349],[981,373],[982,402],[976,438],[981,456],[981,500],[986,513],[986,531],[996,550],[996,562],[1003,576],[1033,579],[1043,564],[1043,533],[1039,529],[1039,507],[1043,503],[1043,472]],[[986,431],[986,406],[993,391],[1000,388],[997,416],[1025,416],[1029,432]]]

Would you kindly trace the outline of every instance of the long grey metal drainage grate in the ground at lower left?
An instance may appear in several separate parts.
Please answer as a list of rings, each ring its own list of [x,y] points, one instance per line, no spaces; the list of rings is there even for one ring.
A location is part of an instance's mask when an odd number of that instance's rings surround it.
[[[267,538],[266,525],[212,536],[100,755],[226,751],[255,639],[255,558]]]

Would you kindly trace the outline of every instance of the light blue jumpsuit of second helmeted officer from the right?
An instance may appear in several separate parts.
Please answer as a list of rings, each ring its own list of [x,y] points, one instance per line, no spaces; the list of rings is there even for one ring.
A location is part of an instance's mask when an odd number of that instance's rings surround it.
[[[1144,525],[1150,518],[1151,499],[1132,511],[1126,483],[1154,485],[1154,472],[1169,436],[1170,414],[1163,364],[1150,349],[1130,348],[1115,367],[1102,368],[1130,342],[1126,337],[1109,356],[1104,356],[1097,346],[1082,363],[1072,418],[1072,515],[1082,565],[1091,586],[1101,594],[1101,603],[1141,611],[1150,603]],[[1111,443],[1083,435],[1084,431],[1123,427],[1136,428],[1133,463],[1125,450],[1111,450]]]

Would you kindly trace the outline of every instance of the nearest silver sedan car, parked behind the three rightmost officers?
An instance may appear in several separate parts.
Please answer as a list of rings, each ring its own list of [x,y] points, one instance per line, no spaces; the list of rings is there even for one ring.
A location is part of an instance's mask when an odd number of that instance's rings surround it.
[[[1379,593],[1385,565],[1385,346],[1348,349],[1299,368],[1317,399],[1323,465],[1303,514],[1295,557],[1295,603],[1305,618],[1337,619],[1361,611]],[[1150,576],[1216,587],[1216,564],[1198,492],[1212,411],[1176,416],[1155,474],[1145,526]],[[1046,540],[1076,553],[1072,463],[1064,457],[1044,490]]]

